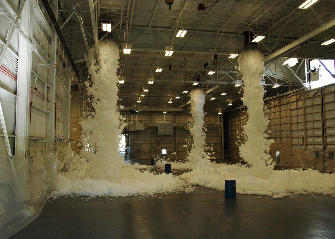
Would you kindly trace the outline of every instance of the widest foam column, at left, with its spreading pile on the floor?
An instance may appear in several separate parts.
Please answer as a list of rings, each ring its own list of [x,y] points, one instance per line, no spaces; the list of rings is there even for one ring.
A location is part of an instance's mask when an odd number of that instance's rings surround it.
[[[94,112],[80,122],[84,147],[81,156],[66,160],[67,170],[59,175],[52,195],[130,196],[192,190],[172,174],[141,172],[123,163],[118,152],[125,126],[117,110],[118,47],[103,42],[98,58],[94,55],[90,50],[87,58],[92,85],[86,82]]]

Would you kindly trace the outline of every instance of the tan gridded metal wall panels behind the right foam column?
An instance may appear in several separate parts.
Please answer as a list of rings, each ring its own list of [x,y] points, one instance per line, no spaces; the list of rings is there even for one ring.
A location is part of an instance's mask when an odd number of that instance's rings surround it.
[[[272,149],[335,150],[335,84],[272,99],[266,106],[269,137],[275,141]],[[240,159],[246,110],[225,117],[229,117],[230,158]]]

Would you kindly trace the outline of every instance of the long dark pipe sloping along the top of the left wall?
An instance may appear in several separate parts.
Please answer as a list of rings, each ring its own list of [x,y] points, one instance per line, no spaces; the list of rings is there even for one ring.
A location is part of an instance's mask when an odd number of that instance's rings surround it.
[[[43,6],[44,6],[45,11],[47,12],[47,14],[48,14],[48,16],[49,16],[49,19],[50,19],[52,25],[54,26],[54,28],[55,28],[55,30],[56,30],[56,33],[57,33],[57,35],[58,35],[58,37],[59,37],[59,40],[60,40],[60,42],[61,42],[61,44],[62,44],[62,46],[63,46],[63,48],[64,48],[64,51],[65,51],[65,53],[66,53],[66,56],[67,56],[67,58],[69,59],[69,62],[70,62],[70,64],[71,64],[71,66],[72,66],[72,69],[73,69],[73,71],[74,71],[74,74],[76,75],[76,77],[78,78],[78,80],[81,80],[81,79],[80,79],[80,76],[79,76],[79,73],[78,73],[78,70],[77,70],[77,67],[76,67],[76,65],[74,64],[72,55],[71,55],[71,53],[70,53],[70,49],[69,49],[69,47],[68,47],[68,45],[67,45],[67,43],[66,43],[66,41],[65,41],[65,37],[64,37],[64,35],[63,35],[63,33],[62,33],[61,28],[59,27],[59,24],[58,24],[58,22],[57,22],[57,19],[56,19],[55,15],[54,15],[54,13],[53,13],[53,11],[52,11],[52,9],[51,9],[51,6],[50,6],[48,0],[41,0],[41,2],[42,2],[42,4],[43,4]]]

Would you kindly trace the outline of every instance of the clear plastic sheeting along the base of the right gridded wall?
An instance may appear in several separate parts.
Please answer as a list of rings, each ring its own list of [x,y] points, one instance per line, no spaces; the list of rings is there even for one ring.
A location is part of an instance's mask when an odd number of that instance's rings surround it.
[[[278,149],[274,159],[277,165],[289,168],[311,168],[324,172],[334,172],[334,151]]]

